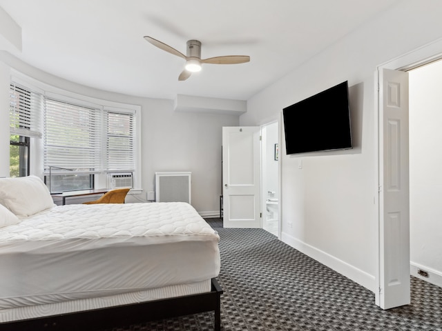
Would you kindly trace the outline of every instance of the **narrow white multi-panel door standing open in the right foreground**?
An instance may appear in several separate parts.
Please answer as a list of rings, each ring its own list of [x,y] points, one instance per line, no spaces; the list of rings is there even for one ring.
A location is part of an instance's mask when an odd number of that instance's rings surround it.
[[[379,294],[383,309],[410,303],[408,73],[379,72]]]

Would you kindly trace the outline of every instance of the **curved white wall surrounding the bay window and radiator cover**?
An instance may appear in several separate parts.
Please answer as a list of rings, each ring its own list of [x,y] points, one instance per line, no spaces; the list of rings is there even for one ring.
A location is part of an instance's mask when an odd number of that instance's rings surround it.
[[[191,171],[192,205],[202,216],[219,214],[222,126],[238,126],[238,115],[206,114],[201,110],[198,110],[199,112],[175,112],[171,100],[130,97],[79,86],[32,68],[1,51],[0,90],[3,92],[0,93],[0,105],[3,106],[0,107],[0,125],[2,126],[0,129],[0,177],[9,174],[10,68],[15,68],[51,86],[77,94],[140,105],[142,107],[143,192],[128,196],[126,201],[146,201],[146,192],[155,190],[156,171]]]

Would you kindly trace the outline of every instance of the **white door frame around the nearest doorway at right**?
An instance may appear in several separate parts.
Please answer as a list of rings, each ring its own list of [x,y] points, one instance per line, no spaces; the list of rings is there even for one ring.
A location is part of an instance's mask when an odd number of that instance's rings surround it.
[[[429,43],[425,46],[422,46],[421,48],[417,48],[416,50],[413,50],[412,52],[408,52],[406,54],[401,55],[400,57],[397,57],[396,59],[392,59],[391,61],[387,61],[379,66],[376,67],[376,72],[374,74],[374,91],[375,91],[375,96],[374,96],[374,108],[376,109],[374,112],[374,137],[375,137],[375,143],[374,143],[374,150],[375,150],[375,156],[374,156],[374,161],[375,161],[375,177],[376,177],[376,187],[375,187],[375,192],[379,191],[379,187],[381,185],[380,181],[379,181],[379,174],[380,174],[380,164],[379,164],[379,152],[380,152],[380,148],[379,146],[383,144],[383,140],[381,132],[383,130],[383,128],[379,128],[379,116],[380,116],[380,105],[379,105],[379,79],[380,79],[380,72],[383,69],[391,69],[391,70],[399,70],[399,71],[407,71],[407,70],[411,70],[413,68],[417,68],[419,66],[423,66],[427,63],[436,61],[442,59],[442,39],[436,39],[436,41],[433,41],[432,43]],[[381,272],[381,252],[385,252],[385,250],[381,250],[381,244],[383,243],[383,241],[381,241],[381,213],[383,212],[383,210],[381,210],[381,205],[379,203],[379,196],[378,194],[376,194],[376,209],[377,209],[377,218],[378,221],[376,222],[376,231],[378,233],[378,238],[377,238],[377,256],[378,256],[378,261],[376,263],[376,274],[375,274],[375,283],[376,283],[376,291],[375,291],[375,303],[376,305],[380,305],[380,301],[381,301],[381,277],[380,277],[380,272]],[[388,242],[385,243],[386,245],[388,245]],[[407,245],[410,245],[410,239],[408,241],[408,243],[405,243]],[[385,257],[384,257],[385,258]]]

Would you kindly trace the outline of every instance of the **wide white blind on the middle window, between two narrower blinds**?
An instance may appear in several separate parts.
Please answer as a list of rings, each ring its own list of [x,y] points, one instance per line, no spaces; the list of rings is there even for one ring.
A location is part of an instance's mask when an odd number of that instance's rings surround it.
[[[44,168],[79,173],[101,170],[102,110],[46,99],[44,116]]]

